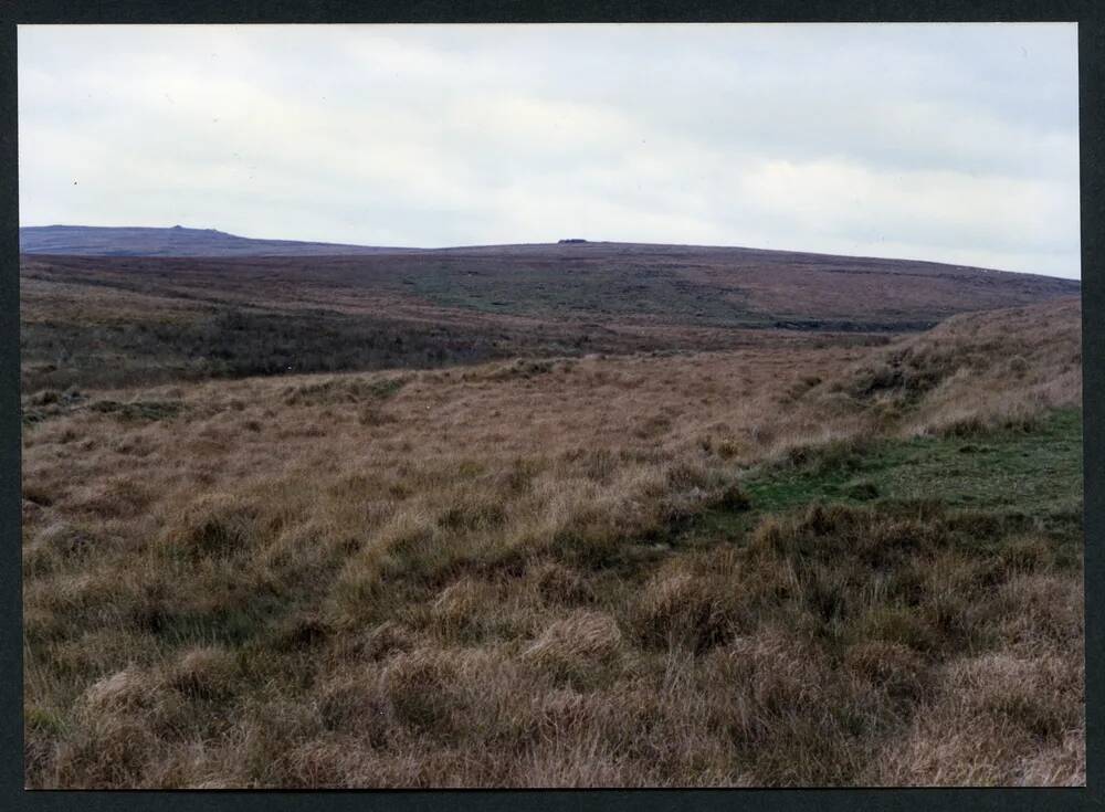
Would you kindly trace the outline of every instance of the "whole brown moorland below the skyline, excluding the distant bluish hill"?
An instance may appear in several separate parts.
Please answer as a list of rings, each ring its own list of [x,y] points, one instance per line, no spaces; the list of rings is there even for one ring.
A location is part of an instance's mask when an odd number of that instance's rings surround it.
[[[21,260],[29,787],[1084,783],[1076,283],[83,250]]]

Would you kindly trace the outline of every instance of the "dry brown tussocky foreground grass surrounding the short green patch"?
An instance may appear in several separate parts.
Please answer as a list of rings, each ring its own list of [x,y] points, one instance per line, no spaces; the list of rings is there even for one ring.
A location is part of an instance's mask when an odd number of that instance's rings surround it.
[[[28,784],[1083,782],[1046,527],[680,536],[764,461],[1076,403],[1076,316],[88,392],[24,433]]]

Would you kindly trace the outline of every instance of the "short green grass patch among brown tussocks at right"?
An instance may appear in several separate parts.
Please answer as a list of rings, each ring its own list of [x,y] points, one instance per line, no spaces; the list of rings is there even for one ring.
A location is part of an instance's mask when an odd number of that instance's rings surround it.
[[[1062,409],[1031,431],[873,440],[799,452],[741,481],[748,508],[697,517],[684,542],[736,540],[768,514],[811,504],[935,504],[1064,538],[1082,531],[1082,413]],[[988,534],[983,534],[988,535]]]

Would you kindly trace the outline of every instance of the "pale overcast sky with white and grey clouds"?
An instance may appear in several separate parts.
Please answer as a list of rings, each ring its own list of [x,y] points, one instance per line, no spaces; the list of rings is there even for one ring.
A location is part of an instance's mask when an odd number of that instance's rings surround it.
[[[22,225],[1077,278],[1077,28],[21,25]]]

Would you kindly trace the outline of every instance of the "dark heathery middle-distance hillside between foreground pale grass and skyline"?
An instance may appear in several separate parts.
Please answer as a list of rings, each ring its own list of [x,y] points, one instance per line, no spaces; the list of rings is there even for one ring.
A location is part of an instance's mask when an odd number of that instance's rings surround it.
[[[1076,282],[744,249],[21,259],[24,386],[870,342]]]

